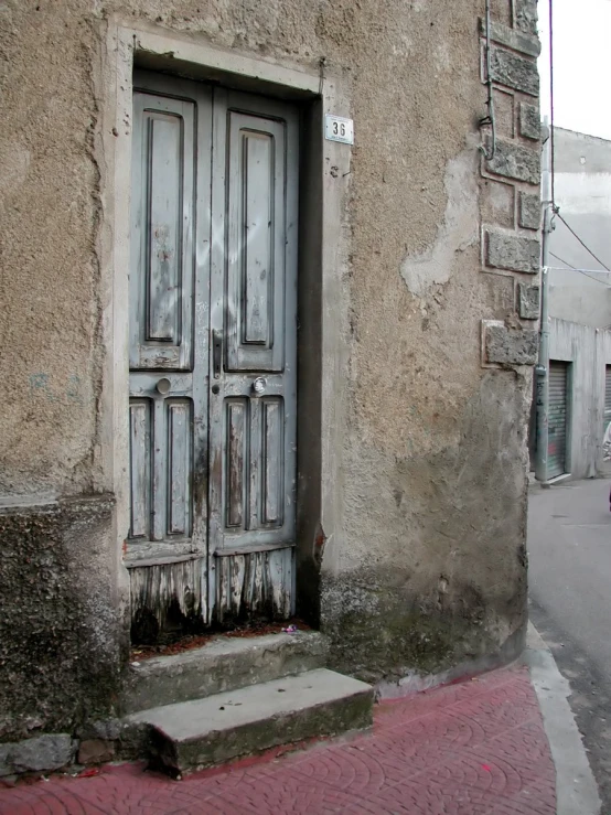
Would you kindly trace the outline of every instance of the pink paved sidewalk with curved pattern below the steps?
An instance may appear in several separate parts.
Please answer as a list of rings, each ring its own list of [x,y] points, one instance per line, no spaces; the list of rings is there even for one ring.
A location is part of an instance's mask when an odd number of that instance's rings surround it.
[[[555,771],[525,667],[378,705],[373,734],[181,782],[141,765],[0,789],[0,813],[554,815]]]

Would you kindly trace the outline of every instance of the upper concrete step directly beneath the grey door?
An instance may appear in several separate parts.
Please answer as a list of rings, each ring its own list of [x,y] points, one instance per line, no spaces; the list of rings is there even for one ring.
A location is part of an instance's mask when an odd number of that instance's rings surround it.
[[[317,631],[264,636],[217,636],[201,648],[129,666],[124,714],[201,699],[224,690],[301,674],[326,664],[329,643]]]

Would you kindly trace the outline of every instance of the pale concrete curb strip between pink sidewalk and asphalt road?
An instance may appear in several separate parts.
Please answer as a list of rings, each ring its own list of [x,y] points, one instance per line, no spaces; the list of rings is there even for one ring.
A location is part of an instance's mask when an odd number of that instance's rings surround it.
[[[556,766],[556,813],[600,815],[598,786],[568,703],[570,685],[530,622],[523,661],[530,672]]]

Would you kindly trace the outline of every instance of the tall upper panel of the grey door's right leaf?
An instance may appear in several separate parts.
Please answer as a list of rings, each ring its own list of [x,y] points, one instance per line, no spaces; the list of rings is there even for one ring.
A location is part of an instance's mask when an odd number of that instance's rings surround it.
[[[282,372],[287,125],[235,110],[227,122],[226,369]]]

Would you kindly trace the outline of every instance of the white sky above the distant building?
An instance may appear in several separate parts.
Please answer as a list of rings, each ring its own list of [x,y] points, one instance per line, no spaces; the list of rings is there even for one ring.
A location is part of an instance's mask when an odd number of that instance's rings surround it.
[[[554,124],[611,139],[611,0],[554,2]],[[539,0],[542,116],[549,116],[548,0]]]

